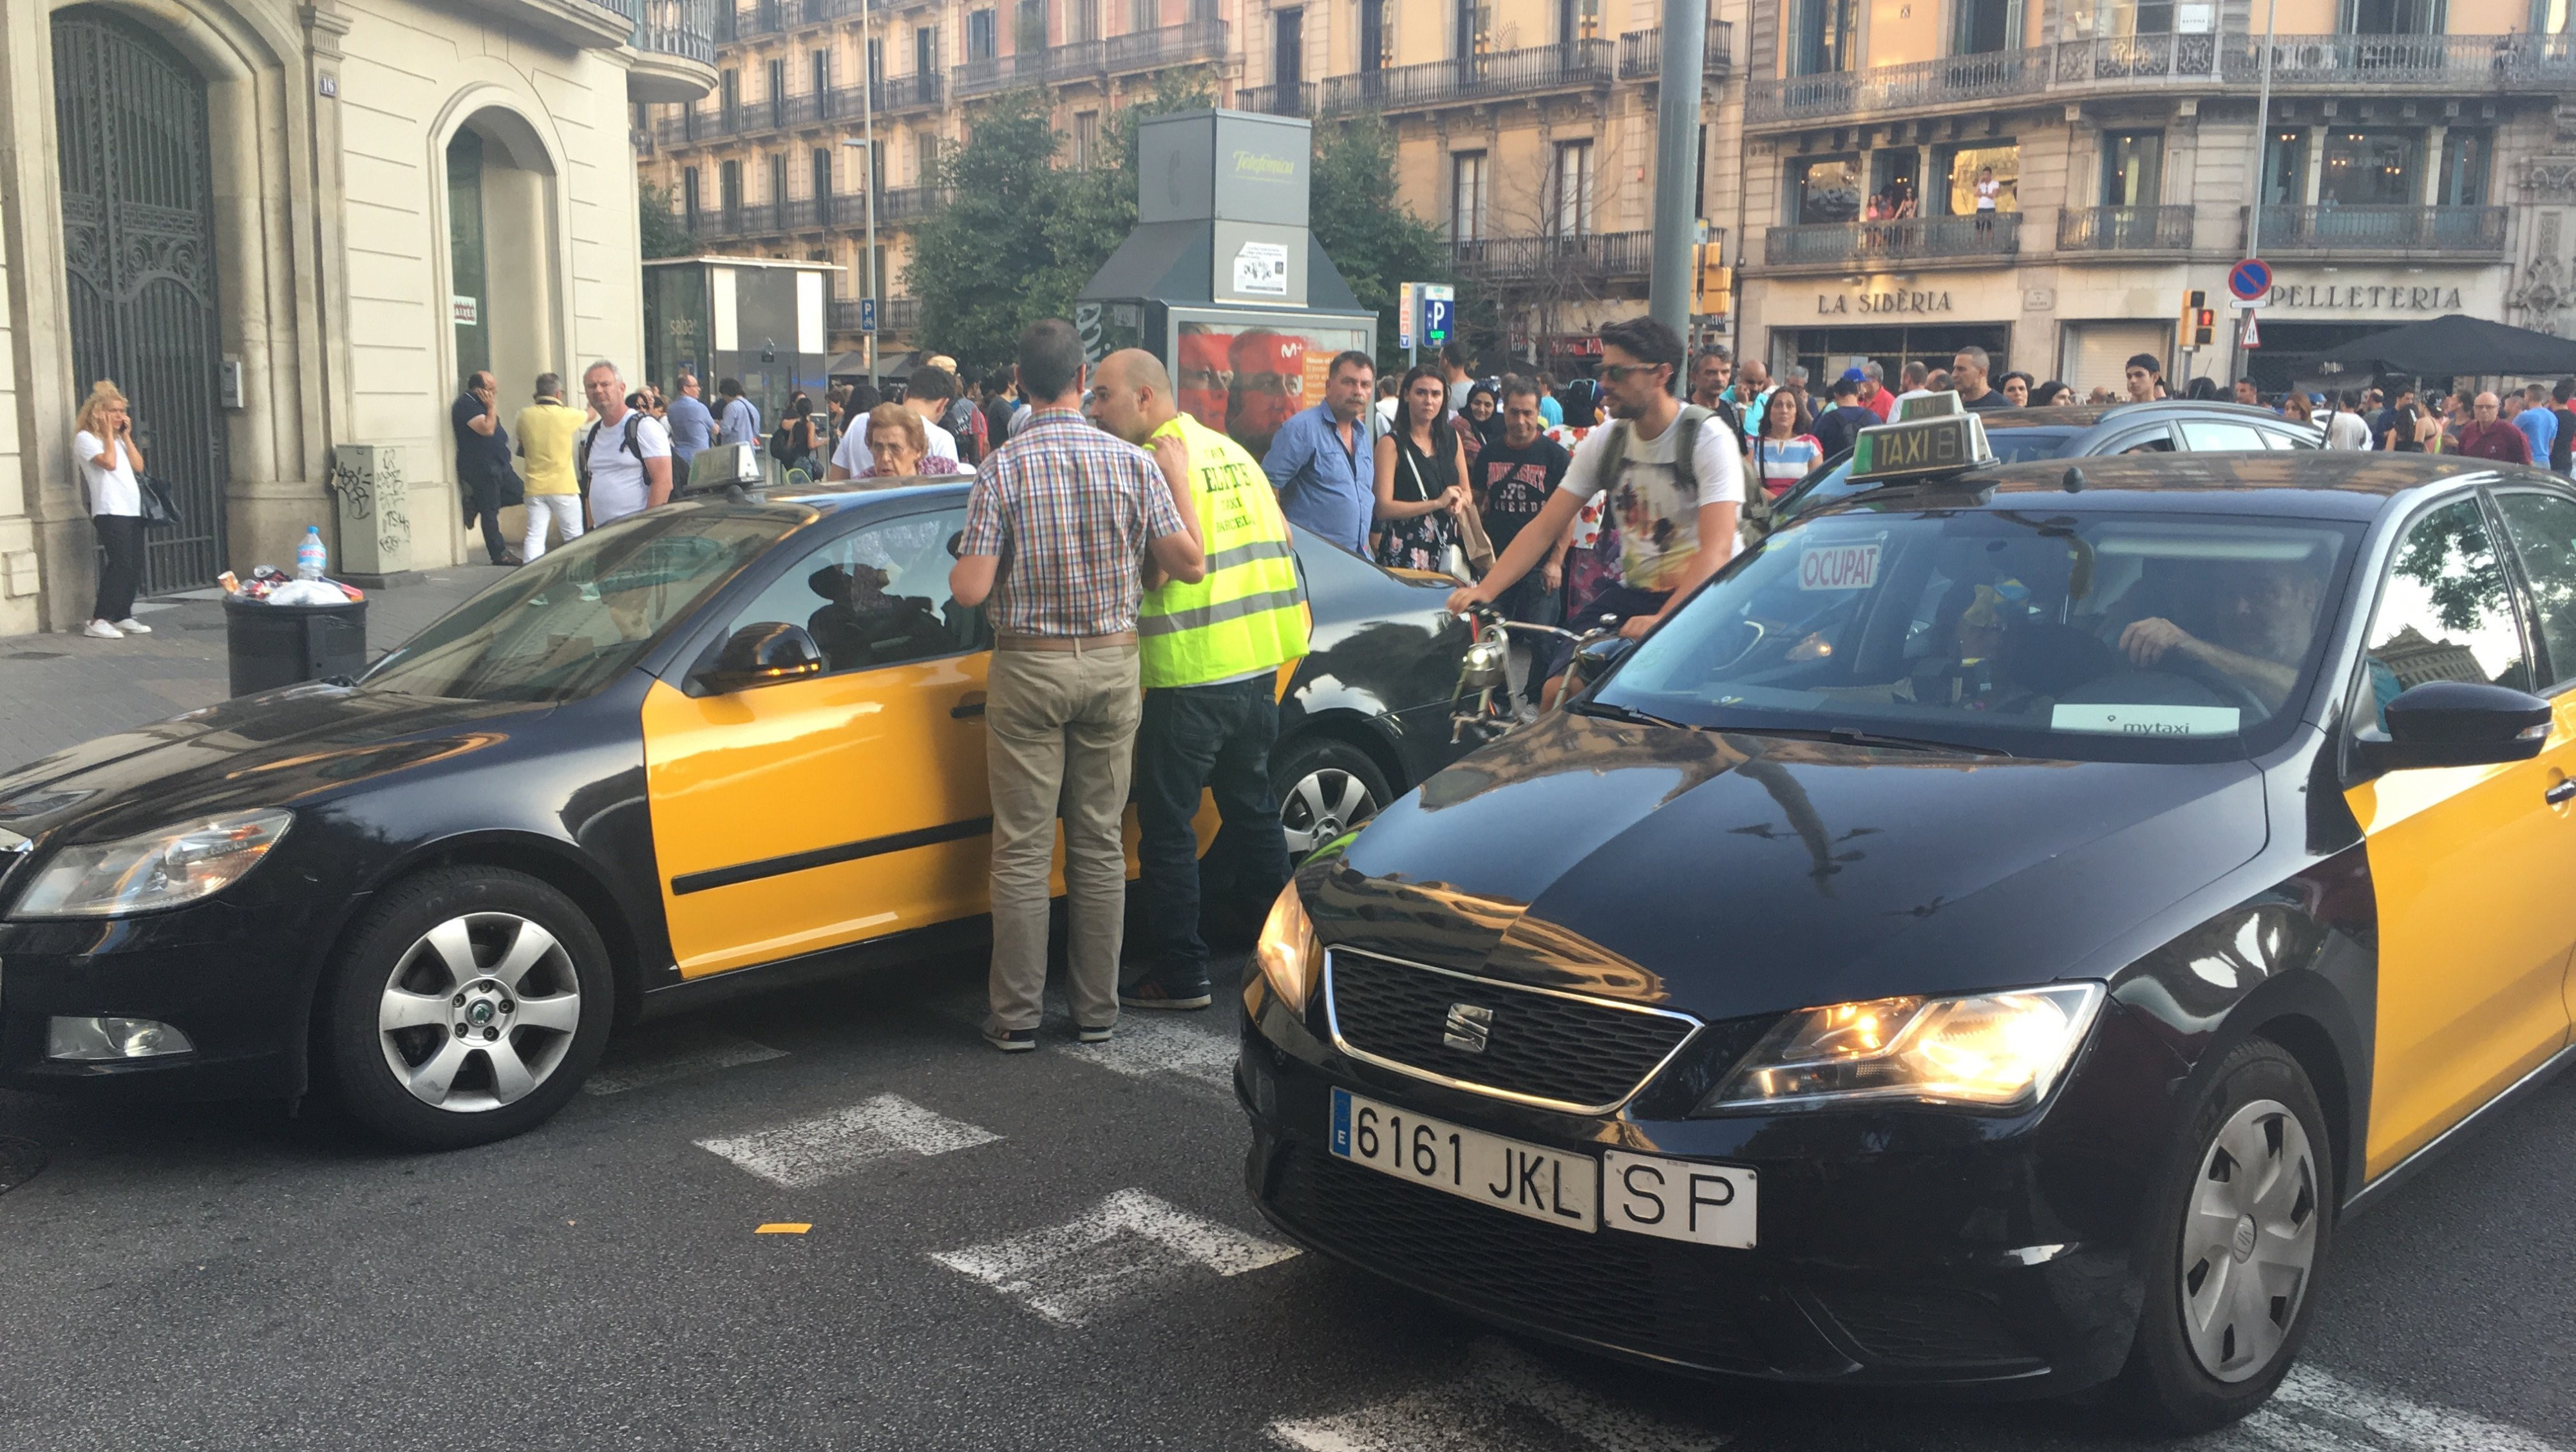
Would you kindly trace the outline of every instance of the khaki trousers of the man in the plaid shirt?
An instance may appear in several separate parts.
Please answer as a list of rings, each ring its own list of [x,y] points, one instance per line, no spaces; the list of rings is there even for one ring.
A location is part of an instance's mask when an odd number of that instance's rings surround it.
[[[1072,945],[1064,991],[1082,1027],[1118,1022],[1118,937],[1126,927],[1128,772],[1136,762],[1136,646],[992,654],[984,690],[992,783],[989,1030],[1038,1027],[1046,991],[1046,870],[1064,808]]]

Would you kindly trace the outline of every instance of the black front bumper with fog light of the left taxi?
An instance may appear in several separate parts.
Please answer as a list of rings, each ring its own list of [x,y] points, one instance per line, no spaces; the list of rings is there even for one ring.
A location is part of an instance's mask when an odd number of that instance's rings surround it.
[[[0,922],[0,1089],[144,1099],[301,1092],[312,968],[350,906],[214,898],[134,919]],[[46,1027],[57,1014],[160,1019],[193,1048],[52,1061]]]

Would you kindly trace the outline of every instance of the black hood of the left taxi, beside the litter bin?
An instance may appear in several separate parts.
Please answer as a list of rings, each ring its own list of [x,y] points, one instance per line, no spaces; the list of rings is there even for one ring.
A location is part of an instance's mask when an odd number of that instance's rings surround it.
[[[180,816],[294,806],[484,749],[551,705],[430,700],[343,685],[245,695],[98,736],[0,775],[0,826],[100,842]]]

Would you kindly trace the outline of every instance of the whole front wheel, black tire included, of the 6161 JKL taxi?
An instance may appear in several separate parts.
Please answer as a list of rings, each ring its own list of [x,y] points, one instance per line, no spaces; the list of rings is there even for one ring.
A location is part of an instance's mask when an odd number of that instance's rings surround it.
[[[2269,1401],[2308,1334],[2334,1205],[2308,1074],[2272,1040],[2241,1043],[2184,1117],[2148,1220],[2146,1303],[2117,1388],[2136,1416],[2197,1434]]]

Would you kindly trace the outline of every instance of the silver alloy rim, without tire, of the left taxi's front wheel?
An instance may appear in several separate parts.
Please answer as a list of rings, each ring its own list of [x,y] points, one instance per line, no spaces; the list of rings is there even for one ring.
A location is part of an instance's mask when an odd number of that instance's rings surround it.
[[[544,924],[474,911],[420,935],[376,1007],[384,1066],[422,1104],[474,1115],[554,1076],[582,1027],[572,955]]]

